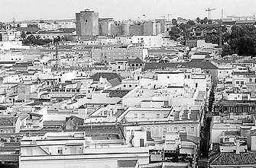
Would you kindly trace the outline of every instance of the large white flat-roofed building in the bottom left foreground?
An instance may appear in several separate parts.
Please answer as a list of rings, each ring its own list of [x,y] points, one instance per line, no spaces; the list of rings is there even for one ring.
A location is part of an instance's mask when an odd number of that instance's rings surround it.
[[[88,132],[89,133],[89,132]],[[148,147],[128,147],[118,137],[89,137],[86,132],[46,133],[21,140],[21,168],[38,167],[128,167],[149,163]],[[89,133],[90,134],[90,133]],[[136,134],[137,135],[137,134]],[[135,136],[136,136],[135,135]]]

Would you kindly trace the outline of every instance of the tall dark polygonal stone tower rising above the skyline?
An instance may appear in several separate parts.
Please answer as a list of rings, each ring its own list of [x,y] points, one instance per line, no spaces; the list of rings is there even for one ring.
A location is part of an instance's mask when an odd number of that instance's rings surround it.
[[[99,35],[99,13],[89,11],[89,9],[76,13],[76,35]]]

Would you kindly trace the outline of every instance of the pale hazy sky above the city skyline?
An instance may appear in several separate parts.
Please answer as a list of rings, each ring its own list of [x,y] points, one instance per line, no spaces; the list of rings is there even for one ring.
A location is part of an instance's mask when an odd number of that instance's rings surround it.
[[[196,19],[206,17],[206,8],[216,8],[212,18],[252,16],[255,0],[0,0],[0,21],[75,18],[76,12],[89,8],[99,17],[115,20],[155,19],[164,14]],[[143,16],[145,15],[145,16]],[[167,17],[166,17],[167,18]]]

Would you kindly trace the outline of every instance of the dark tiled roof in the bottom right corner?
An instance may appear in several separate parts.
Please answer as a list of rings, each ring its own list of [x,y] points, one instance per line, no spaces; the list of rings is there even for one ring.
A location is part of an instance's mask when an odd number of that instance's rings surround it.
[[[256,164],[256,153],[242,153],[242,154],[220,154],[212,165],[251,165]]]

